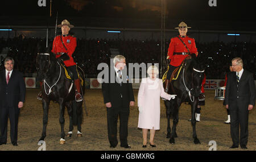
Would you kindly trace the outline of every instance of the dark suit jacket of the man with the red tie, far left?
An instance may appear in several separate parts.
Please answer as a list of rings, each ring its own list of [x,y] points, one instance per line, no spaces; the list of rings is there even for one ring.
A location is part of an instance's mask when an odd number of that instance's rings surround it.
[[[26,85],[22,73],[13,70],[7,85],[5,70],[0,72],[0,107],[18,107],[19,101],[24,102]]]

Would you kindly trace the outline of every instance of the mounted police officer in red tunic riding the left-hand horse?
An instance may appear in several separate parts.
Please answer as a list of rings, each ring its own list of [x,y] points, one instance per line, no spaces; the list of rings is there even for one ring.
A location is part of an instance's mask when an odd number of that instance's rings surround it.
[[[77,72],[76,63],[72,57],[72,54],[76,49],[76,38],[75,36],[68,34],[69,30],[74,26],[65,19],[57,27],[61,28],[62,35],[56,36],[53,40],[52,53],[55,53],[59,63],[65,64],[65,67],[72,72],[76,86],[75,99],[76,102],[80,102],[82,101],[82,95],[79,74]],[[40,92],[38,94],[38,99],[42,99],[42,93]]]

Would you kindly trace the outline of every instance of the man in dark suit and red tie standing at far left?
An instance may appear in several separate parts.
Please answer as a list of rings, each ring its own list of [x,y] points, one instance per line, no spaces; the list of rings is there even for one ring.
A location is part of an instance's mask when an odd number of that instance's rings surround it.
[[[7,122],[10,118],[11,143],[18,146],[18,117],[23,107],[26,85],[22,73],[14,70],[14,60],[5,59],[5,70],[0,72],[0,145],[7,142]]]

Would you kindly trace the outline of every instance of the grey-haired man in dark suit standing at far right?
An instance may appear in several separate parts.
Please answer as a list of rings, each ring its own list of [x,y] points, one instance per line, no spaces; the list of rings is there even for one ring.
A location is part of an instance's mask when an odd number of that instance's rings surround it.
[[[230,130],[233,141],[230,148],[238,148],[240,142],[241,148],[246,149],[249,110],[255,105],[255,84],[253,74],[243,69],[243,61],[240,57],[232,60],[232,68],[233,72],[228,74],[226,82],[224,102],[226,109],[230,110]]]

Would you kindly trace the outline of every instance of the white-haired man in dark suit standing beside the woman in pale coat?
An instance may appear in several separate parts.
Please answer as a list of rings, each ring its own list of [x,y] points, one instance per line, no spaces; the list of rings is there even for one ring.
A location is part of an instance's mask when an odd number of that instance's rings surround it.
[[[126,66],[125,57],[117,55],[110,66],[109,77],[102,83],[102,93],[107,110],[108,138],[110,148],[117,146],[117,121],[120,120],[119,138],[121,147],[131,148],[127,143],[128,117],[130,106],[134,106],[133,86],[129,83],[127,73],[123,70]]]

